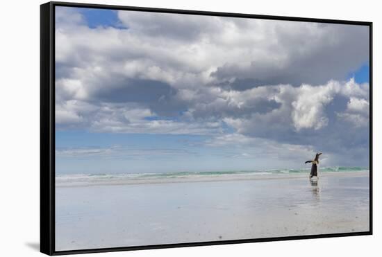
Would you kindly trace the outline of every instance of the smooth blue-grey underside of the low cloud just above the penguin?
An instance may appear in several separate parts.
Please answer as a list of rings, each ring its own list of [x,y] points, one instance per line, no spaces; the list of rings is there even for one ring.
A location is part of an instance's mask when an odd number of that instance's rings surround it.
[[[329,123],[322,130],[296,132],[285,120],[275,121],[277,123],[252,119],[243,125],[240,133],[280,144],[310,145],[313,151],[332,156],[331,162],[326,161],[327,166],[369,166],[368,127],[356,128],[353,125],[335,122]]]

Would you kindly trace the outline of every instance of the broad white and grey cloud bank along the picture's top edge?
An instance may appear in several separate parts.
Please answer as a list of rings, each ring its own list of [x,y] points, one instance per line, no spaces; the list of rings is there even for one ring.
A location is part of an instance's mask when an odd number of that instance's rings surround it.
[[[64,16],[60,12],[58,17]],[[71,76],[88,80],[110,73],[174,88],[235,78],[315,85],[343,79],[368,58],[362,26],[131,11],[119,11],[118,17],[128,29],[57,20],[56,57],[75,67]],[[90,66],[102,72],[91,72]]]

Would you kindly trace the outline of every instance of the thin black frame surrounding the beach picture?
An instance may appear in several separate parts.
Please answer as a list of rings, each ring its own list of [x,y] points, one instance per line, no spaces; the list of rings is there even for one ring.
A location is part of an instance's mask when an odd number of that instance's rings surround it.
[[[110,10],[134,10],[144,12],[166,12],[219,17],[243,17],[251,19],[272,19],[280,21],[308,21],[329,24],[351,24],[369,27],[369,231],[354,233],[332,233],[311,236],[286,236],[280,238],[254,238],[245,240],[222,240],[209,242],[174,243],[167,245],[145,245],[137,247],[113,247],[102,249],[55,250],[55,7],[107,8]],[[344,236],[372,235],[372,22],[347,21],[339,19],[313,19],[269,15],[249,15],[229,12],[197,10],[175,10],[163,8],[142,8],[132,6],[110,6],[90,3],[49,2],[40,6],[40,251],[48,255],[85,254],[107,251],[129,251],[160,249],[169,247],[194,247],[201,245],[225,245],[245,242],[266,242],[299,240],[310,238],[334,238]]]

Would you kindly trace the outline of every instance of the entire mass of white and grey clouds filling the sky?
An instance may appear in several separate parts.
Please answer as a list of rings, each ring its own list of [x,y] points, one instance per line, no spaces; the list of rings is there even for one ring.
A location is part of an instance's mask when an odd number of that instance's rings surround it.
[[[117,18],[122,28],[90,28],[76,8],[56,8],[58,129],[208,135],[210,146],[260,142],[332,160],[368,148],[369,85],[347,79],[368,61],[366,26]]]

